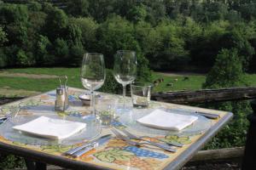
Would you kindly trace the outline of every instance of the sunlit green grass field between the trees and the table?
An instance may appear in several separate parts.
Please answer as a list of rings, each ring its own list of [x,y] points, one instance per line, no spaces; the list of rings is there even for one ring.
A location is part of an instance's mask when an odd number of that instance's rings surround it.
[[[1,74],[3,73],[4,74]],[[26,74],[26,77],[17,73]],[[11,74],[11,76],[9,76]],[[83,88],[79,79],[79,68],[24,68],[24,69],[6,69],[0,71],[0,88],[22,89],[27,91],[45,92],[55,89],[59,82],[57,78],[33,78],[29,75],[67,75],[68,86],[75,88]],[[184,80],[189,77],[189,80]],[[164,78],[164,82],[154,88],[154,92],[160,91],[177,91],[177,90],[196,90],[201,89],[201,84],[205,82],[205,76],[166,76],[160,73],[153,73],[153,80]],[[256,86],[256,74],[246,75],[248,85]],[[177,81],[176,81],[177,80]],[[168,86],[172,83],[172,87]],[[3,90],[0,91],[3,93]],[[7,94],[0,94],[7,95]]]

